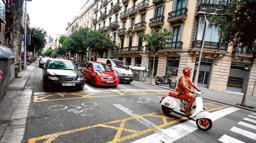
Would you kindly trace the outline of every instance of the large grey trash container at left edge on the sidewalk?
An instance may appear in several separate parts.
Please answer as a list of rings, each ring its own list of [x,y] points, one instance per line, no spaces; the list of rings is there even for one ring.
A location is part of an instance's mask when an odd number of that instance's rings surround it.
[[[0,100],[9,88],[12,64],[14,64],[14,53],[8,47],[0,45]]]

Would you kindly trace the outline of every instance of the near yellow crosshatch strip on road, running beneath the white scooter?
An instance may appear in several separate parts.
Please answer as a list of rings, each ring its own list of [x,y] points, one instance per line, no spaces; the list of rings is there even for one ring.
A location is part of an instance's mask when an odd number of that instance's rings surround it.
[[[218,104],[218,105],[217,105]],[[210,107],[206,108],[206,111],[214,111],[214,110],[218,110],[221,108],[225,108],[225,107],[229,107],[228,105],[221,105],[219,103],[215,104],[215,102],[209,102],[209,103],[204,103],[204,105],[208,106],[210,105]],[[214,106],[216,108],[214,108]],[[87,126],[87,127],[82,127],[82,128],[76,128],[73,130],[67,130],[64,132],[58,132],[58,133],[54,133],[54,134],[49,134],[49,135],[43,135],[41,137],[34,137],[31,139],[28,139],[28,143],[36,143],[36,141],[41,141],[43,140],[44,143],[50,143],[52,141],[54,141],[57,137],[59,137],[60,135],[66,135],[66,134],[71,134],[71,133],[75,133],[75,132],[80,132],[80,131],[84,131],[84,130],[89,130],[92,128],[97,128],[97,127],[103,127],[103,128],[109,128],[112,130],[116,130],[116,134],[114,135],[114,138],[109,141],[108,143],[118,143],[118,142],[122,142],[122,141],[126,141],[128,139],[131,139],[133,137],[137,137],[143,134],[146,134],[148,132],[152,132],[154,130],[157,130],[159,128],[163,128],[165,126],[169,126],[171,124],[174,124],[176,122],[180,122],[181,120],[185,120],[187,119],[186,117],[180,118],[180,119],[176,119],[176,118],[172,118],[172,117],[166,117],[162,111],[160,111],[160,115],[157,115],[157,113],[149,113],[149,114],[145,114],[145,115],[138,115],[135,117],[130,117],[130,118],[126,118],[126,119],[120,119],[120,120],[114,120],[114,121],[110,121],[110,122],[105,122],[105,123],[101,123],[101,124],[95,124],[95,125],[91,125],[91,126]],[[136,120],[137,118],[141,118],[141,117],[155,117],[155,118],[160,118],[163,121],[163,124],[157,125],[155,127],[152,128],[147,128],[145,130],[133,130],[133,129],[129,129],[129,128],[124,128],[126,122],[129,120]],[[130,121],[131,122],[131,121]],[[120,123],[119,126],[113,126],[111,124],[114,123]],[[130,135],[126,135],[121,137],[122,132],[130,132]]]

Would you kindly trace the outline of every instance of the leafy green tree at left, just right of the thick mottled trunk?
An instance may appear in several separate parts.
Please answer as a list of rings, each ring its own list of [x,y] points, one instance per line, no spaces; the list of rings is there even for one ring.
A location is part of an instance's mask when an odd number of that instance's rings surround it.
[[[43,28],[29,28],[27,26],[27,34],[31,34],[31,44],[27,45],[27,51],[38,52],[40,55],[43,51],[46,42],[47,32]]]

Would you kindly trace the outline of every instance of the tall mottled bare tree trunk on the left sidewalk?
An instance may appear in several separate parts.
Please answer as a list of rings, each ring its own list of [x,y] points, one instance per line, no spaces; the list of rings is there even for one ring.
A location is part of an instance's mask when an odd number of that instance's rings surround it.
[[[11,48],[15,51],[15,78],[18,78],[19,67],[20,67],[20,56],[19,56],[19,43],[20,43],[20,24],[21,16],[23,14],[23,0],[14,1],[14,21],[13,21],[13,34],[12,34],[12,46]]]

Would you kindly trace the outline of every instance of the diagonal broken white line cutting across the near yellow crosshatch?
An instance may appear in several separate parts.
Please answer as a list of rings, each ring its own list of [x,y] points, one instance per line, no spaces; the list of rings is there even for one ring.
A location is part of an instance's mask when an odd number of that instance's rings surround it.
[[[113,104],[113,105],[116,106],[118,109],[124,111],[124,113],[130,115],[131,117],[139,116],[138,114],[134,113],[130,109],[128,109],[120,104]],[[150,122],[149,120],[145,119],[144,117],[136,118],[136,120],[138,120],[140,123],[144,124],[147,128],[153,128],[153,127],[157,126],[156,124]],[[168,140],[170,139],[168,137],[168,135],[165,135],[165,133],[162,132],[163,131],[162,128],[156,129],[154,131],[157,132],[156,134],[161,135],[165,139],[168,139]]]

